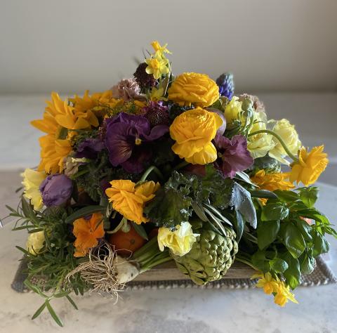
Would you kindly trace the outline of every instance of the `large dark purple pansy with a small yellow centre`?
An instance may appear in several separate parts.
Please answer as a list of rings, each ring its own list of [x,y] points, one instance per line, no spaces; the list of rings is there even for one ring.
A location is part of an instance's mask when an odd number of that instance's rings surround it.
[[[151,129],[150,122],[142,116],[119,115],[107,119],[105,147],[110,163],[121,165],[131,174],[143,171],[144,164],[152,156],[148,143],[161,138],[169,131],[169,126],[159,125]]]

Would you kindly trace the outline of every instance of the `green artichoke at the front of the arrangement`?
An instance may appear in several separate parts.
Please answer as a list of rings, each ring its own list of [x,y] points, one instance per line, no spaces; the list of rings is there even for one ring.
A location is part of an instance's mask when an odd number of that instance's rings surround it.
[[[234,230],[224,226],[226,235],[223,236],[201,220],[194,220],[191,224],[199,237],[185,256],[171,254],[177,267],[197,285],[223,278],[238,251]]]

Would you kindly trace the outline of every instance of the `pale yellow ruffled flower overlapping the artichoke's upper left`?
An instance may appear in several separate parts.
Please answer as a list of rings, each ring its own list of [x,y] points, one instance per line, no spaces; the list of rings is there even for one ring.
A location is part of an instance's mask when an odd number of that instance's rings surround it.
[[[183,222],[176,226],[176,230],[169,228],[159,228],[158,245],[160,251],[164,247],[169,247],[170,251],[176,256],[184,256],[192,249],[193,243],[197,240],[199,234],[193,233],[192,226],[188,222]]]

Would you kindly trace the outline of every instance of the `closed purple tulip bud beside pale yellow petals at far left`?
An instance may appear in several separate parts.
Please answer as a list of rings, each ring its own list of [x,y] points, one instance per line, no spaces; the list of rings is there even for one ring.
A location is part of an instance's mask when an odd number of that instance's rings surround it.
[[[40,191],[47,207],[60,206],[72,195],[72,181],[65,174],[53,174],[41,183]]]

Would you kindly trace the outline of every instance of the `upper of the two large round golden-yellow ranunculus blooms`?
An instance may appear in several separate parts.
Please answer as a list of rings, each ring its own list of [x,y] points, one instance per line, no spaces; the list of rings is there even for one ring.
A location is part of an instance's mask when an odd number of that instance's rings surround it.
[[[206,74],[183,73],[169,88],[169,100],[179,105],[208,107],[219,99],[219,87]]]

